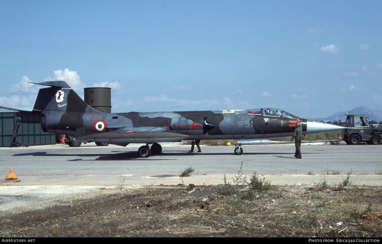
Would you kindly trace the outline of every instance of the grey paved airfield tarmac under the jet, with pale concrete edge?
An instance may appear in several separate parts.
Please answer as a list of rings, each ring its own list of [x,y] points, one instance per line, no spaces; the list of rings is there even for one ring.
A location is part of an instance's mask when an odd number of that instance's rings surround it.
[[[338,182],[351,172],[357,185],[382,184],[382,145],[303,144],[303,159],[296,159],[294,144],[243,146],[244,152],[233,154],[233,146],[202,146],[201,153],[189,153],[189,145],[161,143],[163,151],[148,158],[137,156],[140,144],[126,148],[82,144],[71,148],[65,144],[0,148],[1,172],[9,169],[19,182],[1,185],[121,186],[177,185],[193,183],[222,184],[223,175],[230,179],[254,171],[272,184],[309,184],[325,180]],[[191,166],[191,177],[178,175]]]

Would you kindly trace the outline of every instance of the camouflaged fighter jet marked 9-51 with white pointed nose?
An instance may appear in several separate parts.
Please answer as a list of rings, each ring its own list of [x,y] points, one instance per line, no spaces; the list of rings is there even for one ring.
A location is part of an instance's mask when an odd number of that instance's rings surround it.
[[[64,81],[34,84],[48,86],[39,90],[34,104],[34,111],[44,115],[42,130],[70,135],[74,141],[84,143],[146,144],[138,149],[141,157],[162,152],[160,142],[186,139],[240,142],[292,136],[298,122],[298,117],[277,108],[110,114],[86,104]],[[299,121],[304,135],[342,128],[307,119]],[[240,146],[235,148],[235,154],[242,152]]]

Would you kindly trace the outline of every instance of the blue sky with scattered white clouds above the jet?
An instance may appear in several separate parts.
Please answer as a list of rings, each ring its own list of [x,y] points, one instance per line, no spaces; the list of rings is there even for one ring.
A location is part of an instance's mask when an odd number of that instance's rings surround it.
[[[112,112],[382,108],[381,1],[0,0],[0,106],[111,87]]]

